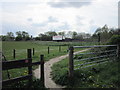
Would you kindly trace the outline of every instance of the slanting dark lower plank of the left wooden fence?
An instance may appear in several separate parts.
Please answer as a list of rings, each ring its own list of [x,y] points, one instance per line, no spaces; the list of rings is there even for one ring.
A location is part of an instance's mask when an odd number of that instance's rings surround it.
[[[10,83],[14,83],[14,82],[18,82],[18,81],[21,81],[21,80],[26,80],[26,79],[29,79],[31,78],[32,75],[26,75],[26,76],[21,76],[21,77],[17,77],[17,78],[12,78],[12,79],[8,79],[8,80],[3,80],[2,81],[2,85],[3,86],[6,86]]]

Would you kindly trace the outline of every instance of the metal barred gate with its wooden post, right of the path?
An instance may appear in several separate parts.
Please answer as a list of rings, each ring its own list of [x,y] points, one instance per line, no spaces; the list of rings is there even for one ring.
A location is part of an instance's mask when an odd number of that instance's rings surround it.
[[[92,58],[85,58],[85,59],[77,59],[74,60],[74,49],[75,48],[102,48],[102,47],[116,47],[115,50],[107,50],[107,51],[101,51],[101,52],[97,52],[97,53],[108,53],[108,52],[115,52],[115,54],[109,54],[109,55],[102,55],[102,56],[96,56],[96,57],[92,57]],[[79,55],[87,55],[87,54],[96,54],[96,52],[92,52],[92,53],[80,53]],[[70,79],[73,78],[74,76],[74,70],[77,69],[81,69],[81,68],[77,68],[74,69],[75,66],[84,66],[84,65],[88,65],[86,67],[91,67],[93,65],[96,65],[97,63],[100,64],[101,63],[105,63],[106,61],[108,61],[107,59],[103,59],[103,60],[97,60],[97,61],[92,61],[92,62],[85,62],[84,64],[77,64],[74,65],[75,62],[79,62],[79,61],[87,61],[87,60],[93,60],[93,59],[101,59],[101,58],[105,58],[105,57],[113,57],[116,56],[116,59],[120,58],[120,45],[94,45],[94,46],[70,46],[69,47],[69,77]],[[95,64],[94,64],[95,63]],[[89,65],[89,64],[93,64],[93,65]],[[83,67],[83,68],[86,68]]]

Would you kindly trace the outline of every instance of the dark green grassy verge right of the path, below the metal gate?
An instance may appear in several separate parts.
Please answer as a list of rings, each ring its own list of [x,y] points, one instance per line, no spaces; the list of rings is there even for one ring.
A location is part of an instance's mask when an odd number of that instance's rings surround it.
[[[82,58],[86,58],[87,56],[88,55],[82,56]],[[112,60],[113,58],[110,59]],[[57,84],[65,85],[70,88],[117,88],[120,86],[120,79],[118,78],[120,77],[120,71],[118,70],[120,61],[118,61],[96,64],[88,68],[81,68],[82,66],[74,67],[81,69],[74,71],[74,77],[71,84],[68,78],[68,58],[66,58],[53,65],[52,79]],[[84,62],[86,61],[75,62],[74,64],[82,64]]]

